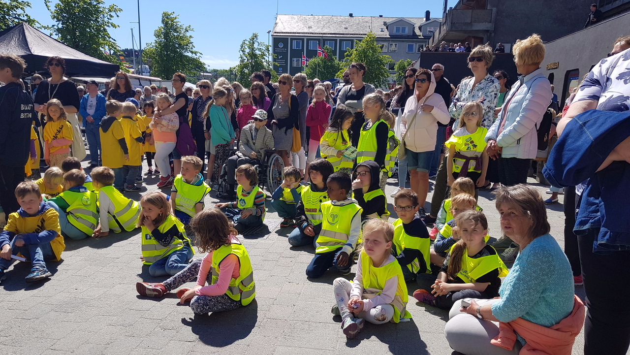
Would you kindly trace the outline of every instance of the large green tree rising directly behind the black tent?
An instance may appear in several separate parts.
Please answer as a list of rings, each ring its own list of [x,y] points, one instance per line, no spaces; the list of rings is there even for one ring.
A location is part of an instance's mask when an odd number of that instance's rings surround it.
[[[109,28],[118,28],[113,18],[122,9],[103,0],[59,0],[54,8],[45,0],[50,17],[57,22],[51,27],[57,39],[70,47],[106,62],[119,64],[120,49],[110,36]]]

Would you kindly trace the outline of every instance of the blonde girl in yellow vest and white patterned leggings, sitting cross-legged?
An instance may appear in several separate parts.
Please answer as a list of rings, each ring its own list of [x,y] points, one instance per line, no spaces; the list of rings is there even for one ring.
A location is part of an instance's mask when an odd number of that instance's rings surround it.
[[[403,270],[391,255],[394,228],[382,219],[370,219],[363,238],[354,281],[338,277],[333,282],[336,305],[331,312],[341,315],[341,329],[350,339],[361,331],[364,320],[382,324],[411,318]]]

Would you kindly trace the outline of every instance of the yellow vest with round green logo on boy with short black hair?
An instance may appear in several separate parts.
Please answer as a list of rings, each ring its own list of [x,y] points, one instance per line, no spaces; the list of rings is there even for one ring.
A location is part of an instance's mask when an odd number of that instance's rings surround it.
[[[323,217],[321,232],[317,238],[315,253],[333,252],[343,247],[348,242],[352,219],[363,209],[356,203],[345,206],[335,206],[333,202],[326,201],[321,204]]]

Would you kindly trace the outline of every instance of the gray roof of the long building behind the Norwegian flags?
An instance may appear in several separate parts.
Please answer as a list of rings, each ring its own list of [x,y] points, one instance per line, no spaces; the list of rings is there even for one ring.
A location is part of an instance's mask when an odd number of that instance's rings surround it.
[[[364,37],[370,30],[377,38],[391,38],[387,29],[381,32],[381,28],[387,23],[397,20],[398,17],[379,16],[320,16],[320,15],[278,15],[273,25],[272,35],[274,36],[324,36],[324,37]],[[425,23],[425,18],[405,17],[415,23],[413,33],[409,35],[396,36],[396,38],[423,38],[418,26]],[[431,18],[431,20],[442,21],[441,18]]]

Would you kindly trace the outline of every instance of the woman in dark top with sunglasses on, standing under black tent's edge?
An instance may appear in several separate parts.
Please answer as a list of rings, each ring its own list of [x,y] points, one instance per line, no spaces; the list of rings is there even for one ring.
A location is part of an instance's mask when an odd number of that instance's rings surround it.
[[[46,114],[46,103],[56,98],[64,106],[68,122],[72,125],[74,137],[83,137],[79,126],[77,113],[81,106],[81,98],[77,86],[72,80],[64,76],[66,74],[66,61],[62,57],[49,57],[45,63],[45,68],[50,72],[50,79],[43,80],[35,94],[35,110]],[[42,120],[43,121],[43,120]],[[79,161],[86,156],[83,139],[72,141],[72,156]]]

